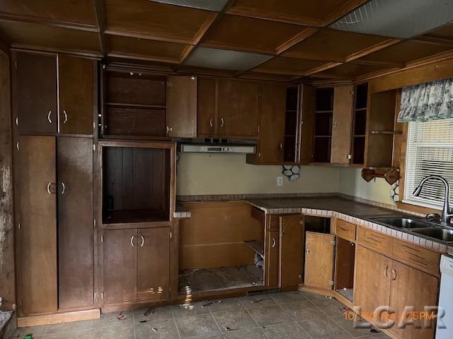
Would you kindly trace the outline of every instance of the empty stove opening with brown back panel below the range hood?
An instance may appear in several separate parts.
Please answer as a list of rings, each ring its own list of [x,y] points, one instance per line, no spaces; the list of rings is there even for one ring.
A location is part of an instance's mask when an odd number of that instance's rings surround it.
[[[192,216],[179,225],[179,294],[262,288],[265,239],[251,206],[225,201],[184,207]]]

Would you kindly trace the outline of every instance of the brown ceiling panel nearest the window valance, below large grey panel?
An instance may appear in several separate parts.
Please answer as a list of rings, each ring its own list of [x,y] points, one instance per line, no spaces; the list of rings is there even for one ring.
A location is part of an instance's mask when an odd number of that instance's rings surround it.
[[[407,40],[363,57],[363,60],[410,62],[453,49],[447,44]]]

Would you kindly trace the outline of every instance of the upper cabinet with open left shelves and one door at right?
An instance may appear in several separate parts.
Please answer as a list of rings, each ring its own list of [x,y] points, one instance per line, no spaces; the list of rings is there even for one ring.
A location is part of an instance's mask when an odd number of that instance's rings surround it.
[[[103,136],[193,138],[197,79],[108,69]]]

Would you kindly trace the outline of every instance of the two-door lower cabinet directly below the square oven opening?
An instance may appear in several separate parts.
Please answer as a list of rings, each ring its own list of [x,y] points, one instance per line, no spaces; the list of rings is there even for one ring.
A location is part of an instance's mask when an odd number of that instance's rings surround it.
[[[106,230],[103,304],[168,299],[170,227]]]

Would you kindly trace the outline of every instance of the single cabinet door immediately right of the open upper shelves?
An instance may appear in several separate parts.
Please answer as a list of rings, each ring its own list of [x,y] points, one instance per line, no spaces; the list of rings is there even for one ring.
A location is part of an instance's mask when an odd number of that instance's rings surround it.
[[[167,136],[197,137],[197,78],[168,76]]]

